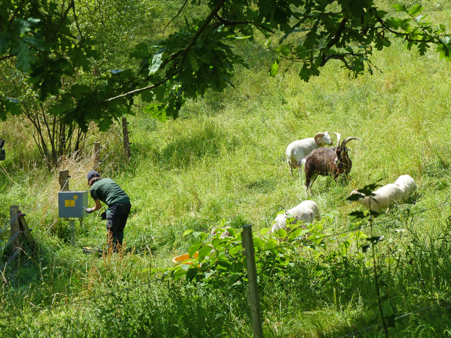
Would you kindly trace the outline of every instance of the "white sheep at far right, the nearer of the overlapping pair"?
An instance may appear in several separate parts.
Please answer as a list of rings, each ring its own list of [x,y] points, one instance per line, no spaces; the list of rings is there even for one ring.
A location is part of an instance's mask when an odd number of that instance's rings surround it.
[[[359,189],[351,192],[351,195],[359,193]],[[375,196],[364,196],[359,198],[357,202],[367,209],[377,211],[379,209],[390,208],[397,201],[403,201],[403,191],[399,185],[389,183],[373,192]]]

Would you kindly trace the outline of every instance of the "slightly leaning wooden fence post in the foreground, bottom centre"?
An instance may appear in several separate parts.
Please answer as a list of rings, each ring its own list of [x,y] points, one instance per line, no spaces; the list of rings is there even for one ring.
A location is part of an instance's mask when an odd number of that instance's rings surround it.
[[[255,257],[252,239],[252,225],[243,225],[241,238],[246,255],[246,265],[248,270],[248,301],[251,308],[252,329],[254,338],[263,338],[262,315],[260,313],[260,297],[258,296],[257,269],[255,267]]]

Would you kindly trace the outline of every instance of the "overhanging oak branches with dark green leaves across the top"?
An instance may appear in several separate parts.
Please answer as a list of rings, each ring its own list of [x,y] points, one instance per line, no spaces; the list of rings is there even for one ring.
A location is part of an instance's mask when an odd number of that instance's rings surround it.
[[[187,0],[188,1],[188,0]],[[185,1],[185,4],[186,2]],[[13,62],[27,74],[39,100],[53,97],[49,113],[77,122],[86,131],[90,121],[106,130],[113,118],[129,112],[134,97],[147,103],[144,111],[165,121],[177,118],[187,98],[202,96],[207,88],[222,91],[233,86],[235,65],[247,65],[232,47],[235,41],[254,41],[255,31],[268,38],[267,48],[279,58],[269,69],[279,72],[280,59],[302,63],[299,76],[318,76],[329,60],[342,62],[353,77],[373,73],[373,49],[402,38],[406,48],[421,55],[435,46],[440,59],[450,60],[450,35],[421,15],[423,7],[392,5],[396,18],[377,9],[371,0],[192,0],[207,5],[202,20],[185,19],[184,28],[153,46],[140,43],[130,54],[139,66],[100,73],[101,86],[76,81],[79,71],[89,72],[99,58],[95,41],[80,30],[74,0],[57,5],[48,0],[11,0],[0,4],[0,62]],[[273,33],[284,33],[278,46]],[[290,41],[290,42],[287,42]],[[70,89],[62,89],[62,78]],[[99,83],[99,82],[97,82]],[[0,94],[0,118],[21,114],[20,102]]]

